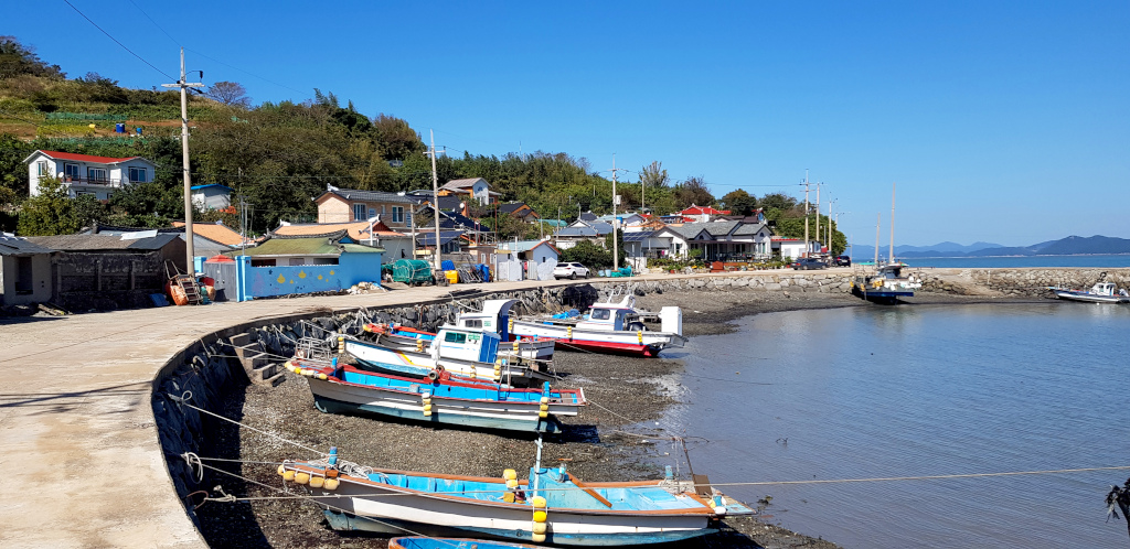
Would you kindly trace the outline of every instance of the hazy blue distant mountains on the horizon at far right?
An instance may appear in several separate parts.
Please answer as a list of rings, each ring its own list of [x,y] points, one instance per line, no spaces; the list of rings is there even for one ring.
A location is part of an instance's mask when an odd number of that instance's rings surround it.
[[[879,249],[879,255],[885,256],[886,246]],[[895,246],[895,255],[911,258],[984,258],[993,255],[1078,255],[1130,253],[1130,238],[1095,235],[1092,237],[1068,236],[1059,241],[1041,242],[1031,246],[1002,246],[989,242],[975,242],[968,246],[954,242],[942,242],[932,246]],[[871,258],[875,246],[855,244],[852,255]]]

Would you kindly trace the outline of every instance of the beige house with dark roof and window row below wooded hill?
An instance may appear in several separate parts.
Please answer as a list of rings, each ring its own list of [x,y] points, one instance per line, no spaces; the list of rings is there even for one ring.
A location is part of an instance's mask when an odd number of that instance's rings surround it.
[[[411,226],[412,208],[420,199],[405,193],[329,186],[314,202],[318,223],[367,221],[380,216],[386,227],[402,229]]]

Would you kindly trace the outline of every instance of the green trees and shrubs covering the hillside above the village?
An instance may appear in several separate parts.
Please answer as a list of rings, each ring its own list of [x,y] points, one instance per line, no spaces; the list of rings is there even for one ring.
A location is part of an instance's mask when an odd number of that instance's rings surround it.
[[[334,94],[319,89],[302,103],[252,106],[242,89],[236,82],[216,82],[207,94],[190,96],[190,171],[193,184],[219,183],[243,197],[252,232],[272,228],[280,219],[314,220],[312,199],[327,185],[391,192],[432,188],[426,147],[407,121],[362,114],[353,102],[342,105]],[[179,121],[179,91],[123,88],[97,73],[68,78],[15,37],[0,37],[0,225],[23,234],[54,234],[95,220],[159,227],[183,219]],[[141,128],[144,137],[115,133],[118,123]],[[115,193],[106,204],[84,199],[32,208],[24,203],[28,183],[23,162],[36,149],[142,156],[158,169],[154,182]],[[565,152],[498,157],[464,151],[441,155],[436,171],[440,184],[484,177],[503,201],[524,201],[544,219],[557,218],[558,211],[565,219],[575,219],[580,211],[611,211],[611,181],[588,159]],[[777,221],[779,233],[803,235],[802,208],[790,197],[758,200],[738,190],[715,199],[702,177],[672,182],[659,162],[642,167],[634,178],[617,184],[620,210],[637,209],[641,202],[657,213],[693,203],[734,213],[763,207]],[[40,213],[20,220],[21,211]],[[198,215],[205,220],[223,217]],[[503,233],[521,228],[498,227]],[[842,250],[843,236],[836,233],[834,241]]]

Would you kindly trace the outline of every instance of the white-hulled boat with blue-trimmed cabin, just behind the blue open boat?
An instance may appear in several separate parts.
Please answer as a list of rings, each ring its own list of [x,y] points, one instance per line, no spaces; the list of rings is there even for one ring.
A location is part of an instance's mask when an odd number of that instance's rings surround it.
[[[337,336],[337,343],[339,352],[349,354],[357,360],[358,366],[373,372],[420,376],[442,367],[453,375],[519,386],[529,386],[551,378],[541,372],[540,363],[501,358],[497,334],[479,332],[463,336],[468,340],[478,339],[477,345],[481,348],[479,357],[486,360],[446,356],[441,347],[428,346],[425,349],[423,341],[415,350],[393,349],[346,336]]]

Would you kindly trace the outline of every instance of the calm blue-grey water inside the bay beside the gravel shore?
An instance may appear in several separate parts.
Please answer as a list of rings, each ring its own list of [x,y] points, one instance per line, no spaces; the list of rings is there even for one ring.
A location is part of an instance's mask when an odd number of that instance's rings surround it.
[[[866,306],[693,338],[662,421],[713,482],[1130,465],[1130,306]],[[1130,470],[731,486],[845,547],[1127,547],[1103,498]]]

